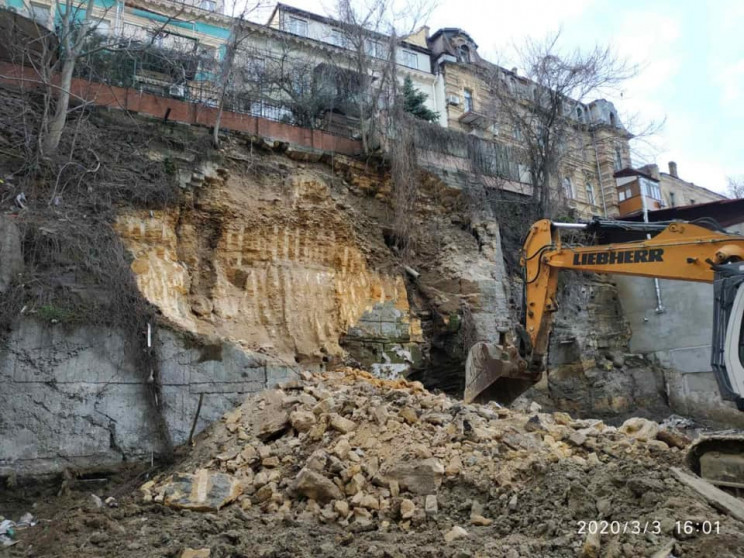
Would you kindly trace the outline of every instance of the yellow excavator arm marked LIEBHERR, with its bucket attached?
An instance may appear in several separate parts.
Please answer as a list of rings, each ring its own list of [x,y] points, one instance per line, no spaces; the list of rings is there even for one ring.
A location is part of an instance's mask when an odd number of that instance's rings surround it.
[[[607,227],[625,226],[649,234],[644,240],[590,246],[564,244],[561,240],[562,230],[597,230],[603,223]],[[651,232],[658,234],[651,237]],[[476,343],[466,363],[465,399],[510,403],[539,381],[545,368],[553,314],[558,309],[556,295],[560,270],[713,283],[717,274],[726,269],[734,276],[734,279],[729,278],[729,285],[739,281],[733,295],[730,288],[727,291],[727,300],[735,298],[736,292],[739,293],[737,300],[740,300],[744,299],[744,290],[738,289],[738,286],[744,281],[737,278],[744,277],[744,265],[732,265],[735,262],[744,262],[744,236],[711,230],[694,223],[613,221],[571,224],[553,223],[547,219],[536,222],[527,234],[521,256],[525,300],[523,323],[518,328],[519,349],[506,339],[501,339],[499,344]],[[723,294],[719,298],[722,299]],[[737,346],[726,352],[726,347],[736,343],[733,336],[739,335],[739,330],[736,333],[732,330],[728,336],[723,331],[727,324],[735,324],[736,312],[741,312],[741,306],[744,306],[744,300],[739,306],[735,302],[728,301],[728,314],[731,315],[725,316],[721,315],[723,310],[719,311],[721,304],[717,302],[714,323],[713,366],[721,392],[728,399],[744,396],[744,380],[739,390],[737,382],[732,379],[732,365],[726,368],[724,364],[726,358],[728,362],[733,362],[734,352],[738,350]],[[720,350],[715,348],[716,335],[723,339],[719,339]],[[720,361],[718,365],[716,357]]]

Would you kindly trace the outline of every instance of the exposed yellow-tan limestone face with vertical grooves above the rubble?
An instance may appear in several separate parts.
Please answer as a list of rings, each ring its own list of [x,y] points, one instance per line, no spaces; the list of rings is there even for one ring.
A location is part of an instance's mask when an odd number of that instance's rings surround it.
[[[205,174],[193,206],[130,213],[116,225],[138,286],[166,318],[307,362],[341,355],[340,337],[380,304],[394,315],[386,332],[375,318],[378,335],[421,339],[403,277],[370,268],[319,174]]]

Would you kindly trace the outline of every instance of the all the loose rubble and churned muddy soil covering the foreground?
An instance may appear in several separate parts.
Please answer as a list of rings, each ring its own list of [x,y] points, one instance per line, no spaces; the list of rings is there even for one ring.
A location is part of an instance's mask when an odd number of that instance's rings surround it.
[[[687,443],[645,419],[616,429],[536,405],[465,405],[349,369],[303,374],[248,398],[149,480],[27,495],[39,523],[4,552],[741,556],[744,524],[671,471]],[[30,505],[0,502],[6,514]],[[603,520],[621,533],[586,532]],[[677,521],[717,522],[719,533],[685,535]]]

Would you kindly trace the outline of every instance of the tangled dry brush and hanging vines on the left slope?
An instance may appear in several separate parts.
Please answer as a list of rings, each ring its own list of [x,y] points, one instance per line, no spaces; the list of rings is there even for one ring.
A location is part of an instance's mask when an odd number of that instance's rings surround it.
[[[123,209],[155,210],[177,202],[175,177],[149,155],[182,150],[187,141],[166,125],[81,110],[68,121],[55,154],[38,158],[43,101],[37,93],[8,89],[0,96],[0,207],[20,230],[24,264],[0,294],[0,340],[21,316],[54,327],[85,324],[120,331],[150,386],[169,448],[158,361],[146,335],[148,325],[157,331],[157,311],[140,294],[114,222]]]

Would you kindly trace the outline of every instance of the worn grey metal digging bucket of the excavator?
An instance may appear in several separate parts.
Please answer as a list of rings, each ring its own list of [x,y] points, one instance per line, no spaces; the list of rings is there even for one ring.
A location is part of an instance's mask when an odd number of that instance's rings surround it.
[[[504,342],[479,342],[465,362],[466,403],[496,401],[508,405],[540,380],[541,372],[529,372],[517,348]]]

